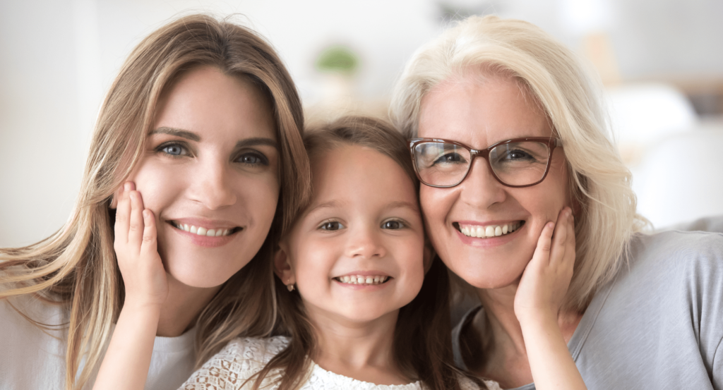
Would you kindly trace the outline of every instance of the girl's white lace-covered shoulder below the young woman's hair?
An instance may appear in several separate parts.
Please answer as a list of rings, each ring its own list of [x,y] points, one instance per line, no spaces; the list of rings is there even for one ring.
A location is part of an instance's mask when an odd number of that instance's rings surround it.
[[[287,345],[288,338],[281,336],[233,339],[193,373],[181,389],[239,389]]]

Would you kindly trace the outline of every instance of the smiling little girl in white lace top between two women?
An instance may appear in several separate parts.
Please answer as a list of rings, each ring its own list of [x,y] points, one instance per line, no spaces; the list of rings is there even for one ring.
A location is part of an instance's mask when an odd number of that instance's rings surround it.
[[[275,256],[285,335],[234,340],[181,388],[499,389],[453,368],[448,273],[424,244],[403,137],[351,117],[307,133],[305,144],[314,194]],[[516,298],[520,315],[559,310],[574,261],[568,215],[554,240],[552,222],[542,231]],[[555,389],[584,389],[543,317],[529,353],[548,360],[537,364]]]

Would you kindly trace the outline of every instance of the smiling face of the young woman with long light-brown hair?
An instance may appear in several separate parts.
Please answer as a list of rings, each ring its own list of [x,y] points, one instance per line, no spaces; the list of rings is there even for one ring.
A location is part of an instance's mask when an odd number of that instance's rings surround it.
[[[259,251],[279,194],[268,99],[211,66],[187,71],[158,101],[145,155],[129,176],[158,226],[166,272],[221,285]]]

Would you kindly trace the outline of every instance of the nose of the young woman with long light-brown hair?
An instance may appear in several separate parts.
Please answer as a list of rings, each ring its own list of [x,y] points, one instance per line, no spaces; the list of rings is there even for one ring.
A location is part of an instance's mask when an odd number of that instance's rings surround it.
[[[236,203],[236,192],[231,186],[231,167],[226,160],[211,160],[194,167],[190,197],[208,209],[221,209]]]

